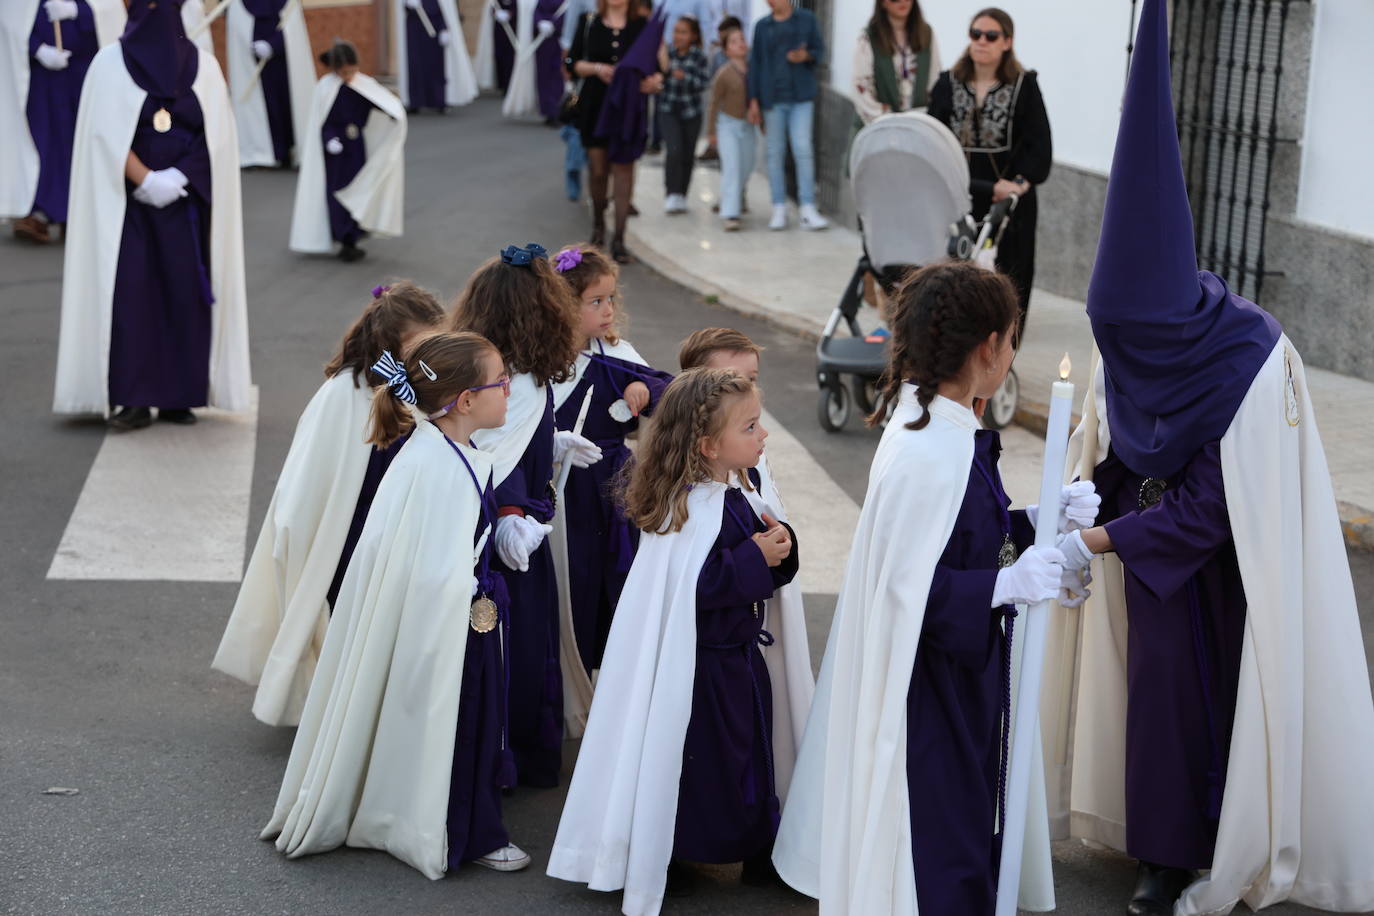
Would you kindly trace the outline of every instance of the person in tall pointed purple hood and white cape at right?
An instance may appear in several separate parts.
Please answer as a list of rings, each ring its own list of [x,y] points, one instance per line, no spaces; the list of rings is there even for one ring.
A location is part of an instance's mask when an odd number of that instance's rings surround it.
[[[1164,0],[1135,47],[1087,302],[1106,523],[1062,541],[1109,584],[1072,823],[1140,860],[1131,915],[1374,909],[1374,702],[1303,363],[1197,268]]]

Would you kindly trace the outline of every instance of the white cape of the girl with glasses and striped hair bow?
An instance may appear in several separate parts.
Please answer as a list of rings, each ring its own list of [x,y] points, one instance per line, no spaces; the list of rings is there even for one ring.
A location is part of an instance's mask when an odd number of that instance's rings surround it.
[[[491,464],[463,448],[478,481]],[[438,879],[463,683],[480,499],[420,423],[382,478],[339,591],[264,839],[289,857],[342,843]]]

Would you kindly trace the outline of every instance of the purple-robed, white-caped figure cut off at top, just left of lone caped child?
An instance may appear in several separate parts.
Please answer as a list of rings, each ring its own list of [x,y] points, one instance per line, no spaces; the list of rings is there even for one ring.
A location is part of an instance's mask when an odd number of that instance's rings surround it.
[[[309,124],[315,63],[301,0],[234,0],[224,56],[239,125],[239,158],[291,168]]]

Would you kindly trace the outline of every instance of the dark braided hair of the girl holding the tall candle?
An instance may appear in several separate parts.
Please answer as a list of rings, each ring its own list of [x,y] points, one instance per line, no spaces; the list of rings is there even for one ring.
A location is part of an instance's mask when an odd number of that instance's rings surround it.
[[[882,422],[901,383],[911,382],[921,416],[907,428],[925,428],[940,383],[959,378],[969,354],[989,334],[999,341],[1009,328],[1015,334],[1020,313],[1017,290],[1003,273],[971,261],[940,261],[914,271],[892,305],[888,369],[878,380],[882,394],[868,426]]]

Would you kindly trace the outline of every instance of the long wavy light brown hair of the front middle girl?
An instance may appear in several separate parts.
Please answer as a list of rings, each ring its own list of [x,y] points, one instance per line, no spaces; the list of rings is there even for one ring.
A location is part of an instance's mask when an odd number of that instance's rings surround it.
[[[660,534],[682,530],[688,489],[710,479],[701,439],[720,435],[734,398],[754,390],[734,369],[687,369],[669,383],[625,468],[621,503],[631,523]],[[749,478],[739,477],[747,486]]]

